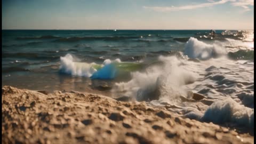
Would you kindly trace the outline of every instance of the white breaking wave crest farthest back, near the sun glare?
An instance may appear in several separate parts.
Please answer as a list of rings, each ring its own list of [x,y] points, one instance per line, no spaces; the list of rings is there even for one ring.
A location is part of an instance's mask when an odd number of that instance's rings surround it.
[[[184,54],[189,58],[198,58],[200,60],[207,60],[210,58],[219,57],[219,55],[226,54],[226,50],[218,45],[210,45],[198,41],[197,38],[190,37],[185,45]]]

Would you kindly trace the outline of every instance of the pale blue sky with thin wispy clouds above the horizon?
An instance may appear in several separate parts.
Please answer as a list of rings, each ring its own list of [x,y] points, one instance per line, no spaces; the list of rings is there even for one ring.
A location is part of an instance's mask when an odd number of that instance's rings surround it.
[[[2,29],[254,29],[253,0],[3,0]]]

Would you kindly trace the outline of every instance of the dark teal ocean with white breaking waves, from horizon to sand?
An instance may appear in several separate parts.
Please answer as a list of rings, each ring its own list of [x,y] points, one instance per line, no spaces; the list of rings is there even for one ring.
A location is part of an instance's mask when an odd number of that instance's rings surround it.
[[[2,86],[127,97],[253,130],[253,37],[253,30],[2,30]]]

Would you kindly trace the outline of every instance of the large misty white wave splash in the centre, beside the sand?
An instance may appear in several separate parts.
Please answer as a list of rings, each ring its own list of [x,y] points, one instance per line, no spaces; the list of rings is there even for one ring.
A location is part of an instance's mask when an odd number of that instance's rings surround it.
[[[180,89],[195,81],[195,74],[187,72],[181,66],[182,60],[177,57],[159,57],[164,65],[151,65],[144,72],[131,73],[129,82],[116,83],[113,92],[135,97],[138,101],[151,101],[166,98],[176,100],[186,92]]]

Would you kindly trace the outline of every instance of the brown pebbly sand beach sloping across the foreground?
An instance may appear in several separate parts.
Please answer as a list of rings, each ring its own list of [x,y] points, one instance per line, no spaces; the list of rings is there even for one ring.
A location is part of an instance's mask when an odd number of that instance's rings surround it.
[[[182,118],[146,102],[2,86],[3,143],[254,143],[254,136]]]

